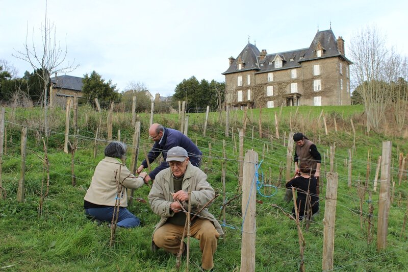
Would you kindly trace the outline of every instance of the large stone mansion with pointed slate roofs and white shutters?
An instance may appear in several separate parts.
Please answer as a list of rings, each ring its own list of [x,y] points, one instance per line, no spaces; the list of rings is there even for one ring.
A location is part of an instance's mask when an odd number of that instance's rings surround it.
[[[344,40],[318,31],[311,45],[268,54],[248,42],[225,75],[225,101],[235,108],[350,105],[350,69]]]

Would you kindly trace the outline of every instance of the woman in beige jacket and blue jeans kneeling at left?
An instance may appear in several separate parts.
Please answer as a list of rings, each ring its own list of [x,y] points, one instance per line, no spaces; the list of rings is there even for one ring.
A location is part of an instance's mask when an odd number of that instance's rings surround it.
[[[100,221],[112,221],[115,203],[119,206],[117,226],[134,228],[140,219],[126,209],[126,188],[143,186],[146,172],[135,177],[124,164],[126,145],[113,141],[105,148],[105,158],[95,168],[91,185],[84,197],[85,213]],[[117,202],[116,202],[117,201]]]

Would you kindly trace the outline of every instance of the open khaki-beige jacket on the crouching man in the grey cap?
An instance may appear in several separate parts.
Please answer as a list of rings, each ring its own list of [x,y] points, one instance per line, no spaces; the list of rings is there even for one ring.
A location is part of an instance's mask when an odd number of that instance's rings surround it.
[[[166,168],[161,170],[155,178],[155,182],[151,187],[148,199],[150,208],[153,212],[160,215],[160,221],[155,226],[155,232],[164,225],[167,219],[174,215],[174,212],[170,210],[170,204],[173,202],[171,193],[174,192],[174,184],[171,178],[171,169]],[[193,214],[198,212],[197,207],[204,207],[215,195],[214,189],[210,183],[207,182],[207,175],[189,162],[186,173],[184,174],[182,190],[189,191],[191,189],[191,212]],[[208,207],[208,206],[207,206]],[[188,210],[188,204],[184,205],[184,208]],[[222,235],[221,225],[215,219],[208,208],[203,209],[199,213],[199,217],[207,218],[213,222],[217,232]],[[156,245],[152,242],[152,250],[156,250]]]

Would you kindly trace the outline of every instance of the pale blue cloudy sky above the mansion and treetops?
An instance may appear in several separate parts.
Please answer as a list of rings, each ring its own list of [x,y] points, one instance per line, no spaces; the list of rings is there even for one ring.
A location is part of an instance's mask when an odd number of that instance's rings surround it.
[[[0,60],[17,68],[18,77],[34,70],[15,56],[26,38],[31,50],[40,48],[45,10],[67,51],[59,67],[78,65],[66,75],[95,70],[119,92],[140,82],[152,95],[169,96],[192,76],[223,82],[228,58],[237,58],[248,40],[268,54],[297,50],[330,23],[345,40],[346,57],[351,39],[367,26],[408,56],[405,0],[0,0]]]

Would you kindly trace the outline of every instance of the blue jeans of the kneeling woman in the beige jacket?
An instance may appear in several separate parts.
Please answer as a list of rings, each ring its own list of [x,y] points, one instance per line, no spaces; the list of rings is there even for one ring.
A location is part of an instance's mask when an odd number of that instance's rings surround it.
[[[85,213],[89,214],[101,221],[112,221],[114,207],[106,208],[90,208],[85,209]],[[119,207],[119,218],[117,222],[118,227],[135,228],[140,225],[140,219],[124,207]]]

